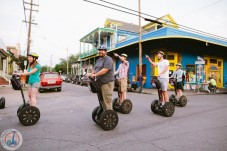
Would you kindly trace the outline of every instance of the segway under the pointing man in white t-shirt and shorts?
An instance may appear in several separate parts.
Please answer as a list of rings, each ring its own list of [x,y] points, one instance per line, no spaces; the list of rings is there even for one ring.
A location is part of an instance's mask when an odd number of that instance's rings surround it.
[[[161,105],[162,89],[160,81],[157,77],[153,77],[151,80],[151,84],[154,88],[157,88],[159,97],[159,100],[154,100],[151,103],[152,112],[155,114],[164,115],[166,117],[171,117],[175,111],[175,106],[172,102],[166,102],[164,105]]]

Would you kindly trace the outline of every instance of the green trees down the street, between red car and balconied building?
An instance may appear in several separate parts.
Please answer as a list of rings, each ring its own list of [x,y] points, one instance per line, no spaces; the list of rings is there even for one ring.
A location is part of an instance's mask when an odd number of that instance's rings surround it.
[[[71,71],[71,65],[74,62],[77,62],[78,61],[79,54],[76,54],[76,55],[71,54],[68,59],[69,59],[68,60],[69,61],[68,71]],[[61,71],[62,74],[66,74],[67,73],[67,59],[61,58],[60,59],[60,63],[55,65],[54,70],[56,72]]]

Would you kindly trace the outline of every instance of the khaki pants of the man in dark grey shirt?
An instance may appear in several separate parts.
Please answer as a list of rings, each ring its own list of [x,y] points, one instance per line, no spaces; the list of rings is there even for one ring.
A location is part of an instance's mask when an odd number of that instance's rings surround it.
[[[102,96],[104,101],[102,102],[102,106],[104,111],[113,110],[113,105],[112,105],[113,89],[114,89],[113,81],[107,84],[103,84],[101,86],[101,91],[102,91]]]

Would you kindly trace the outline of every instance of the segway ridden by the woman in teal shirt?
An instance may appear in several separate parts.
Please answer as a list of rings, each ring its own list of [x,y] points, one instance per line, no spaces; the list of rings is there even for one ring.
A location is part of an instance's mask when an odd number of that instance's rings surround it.
[[[40,111],[37,107],[30,106],[29,103],[25,102],[23,89],[20,83],[20,76],[13,75],[11,78],[11,83],[16,86],[16,89],[21,90],[23,104],[17,110],[17,116],[20,123],[24,126],[31,126],[36,124],[40,118]]]

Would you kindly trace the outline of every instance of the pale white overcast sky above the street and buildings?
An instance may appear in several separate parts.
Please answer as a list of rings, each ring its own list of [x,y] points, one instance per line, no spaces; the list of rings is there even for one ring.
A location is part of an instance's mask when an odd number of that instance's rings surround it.
[[[25,0],[30,2],[30,0]],[[105,4],[99,0],[90,0]],[[138,10],[138,0],[107,0]],[[33,0],[39,7],[33,12],[31,51],[40,55],[41,65],[52,65],[60,58],[79,53],[79,40],[107,18],[138,24],[138,17],[97,6],[83,0]],[[105,4],[107,5],[107,4]],[[181,25],[227,38],[227,0],[141,0],[141,12],[161,17],[170,14]],[[26,5],[28,8],[29,5]],[[28,20],[29,11],[26,11]],[[21,54],[27,48],[28,25],[23,0],[0,0],[0,39],[6,46],[20,44]],[[142,21],[142,25],[148,22]]]

